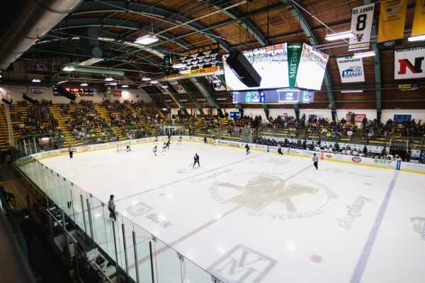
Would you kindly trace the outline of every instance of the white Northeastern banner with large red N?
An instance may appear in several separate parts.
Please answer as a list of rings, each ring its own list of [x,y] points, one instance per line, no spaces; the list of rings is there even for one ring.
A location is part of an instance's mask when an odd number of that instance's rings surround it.
[[[394,50],[394,79],[425,78],[425,45]]]

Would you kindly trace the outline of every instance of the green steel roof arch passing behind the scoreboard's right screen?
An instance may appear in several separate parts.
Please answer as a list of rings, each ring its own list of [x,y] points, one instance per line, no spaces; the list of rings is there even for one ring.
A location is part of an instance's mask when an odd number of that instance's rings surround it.
[[[307,39],[310,41],[312,45],[320,45],[319,40],[317,39],[316,35],[314,35],[312,31],[312,27],[310,25],[310,22],[308,21],[308,18],[300,11],[300,8],[294,4],[292,4],[292,0],[280,0],[285,5],[290,5],[290,8],[288,10],[290,13],[293,14],[294,18],[297,19],[298,23],[300,23],[302,30],[304,30],[305,35],[307,35]],[[332,91],[332,84],[331,84],[331,76],[329,75],[328,67],[326,67],[325,73],[324,73],[324,85],[327,89],[329,103],[331,104],[331,110],[335,111],[335,99],[334,99],[334,93]]]

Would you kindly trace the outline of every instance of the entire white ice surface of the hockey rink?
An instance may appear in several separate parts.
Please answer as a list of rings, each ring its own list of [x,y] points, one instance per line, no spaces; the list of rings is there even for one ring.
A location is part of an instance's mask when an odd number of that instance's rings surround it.
[[[425,175],[316,171],[310,158],[195,141],[152,148],[41,162],[103,202],[114,194],[118,212],[225,282],[425,282]]]

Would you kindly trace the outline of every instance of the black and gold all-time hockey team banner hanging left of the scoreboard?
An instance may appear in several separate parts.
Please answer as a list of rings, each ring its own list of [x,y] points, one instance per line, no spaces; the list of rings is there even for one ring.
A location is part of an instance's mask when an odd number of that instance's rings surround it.
[[[192,50],[181,52],[179,55],[171,54],[164,57],[164,78],[173,79],[189,76],[205,76],[220,71],[218,54],[220,52],[217,43],[205,45]],[[186,64],[185,68],[176,69],[174,64]],[[181,71],[187,71],[181,74]]]

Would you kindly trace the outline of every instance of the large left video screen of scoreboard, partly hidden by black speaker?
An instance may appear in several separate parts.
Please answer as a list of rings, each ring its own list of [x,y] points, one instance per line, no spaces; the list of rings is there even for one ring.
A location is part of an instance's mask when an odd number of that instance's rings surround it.
[[[252,67],[261,76],[261,85],[259,87],[249,88],[242,81],[239,81],[232,69],[226,64],[226,59],[229,56],[226,54],[222,59],[227,91],[289,87],[286,43],[246,50],[242,54],[244,54]]]

